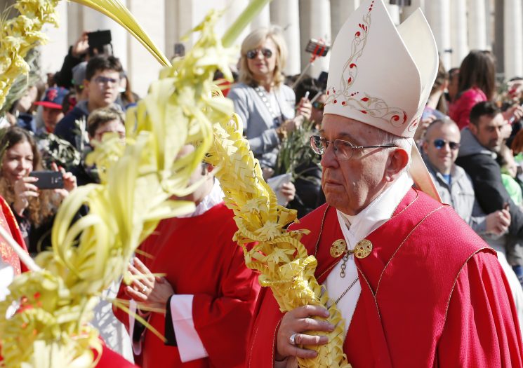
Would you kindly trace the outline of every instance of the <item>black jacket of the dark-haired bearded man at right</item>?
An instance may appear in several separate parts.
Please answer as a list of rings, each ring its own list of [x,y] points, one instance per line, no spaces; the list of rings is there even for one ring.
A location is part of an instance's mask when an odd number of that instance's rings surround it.
[[[456,164],[460,165],[472,179],[477,203],[483,212],[489,214],[502,210],[509,205],[510,226],[508,234],[523,243],[523,211],[512,202],[501,182],[501,168],[496,162],[496,154],[479,144],[472,132],[465,128],[461,131],[461,147]],[[507,259],[512,265],[523,265],[520,247],[507,249]]]

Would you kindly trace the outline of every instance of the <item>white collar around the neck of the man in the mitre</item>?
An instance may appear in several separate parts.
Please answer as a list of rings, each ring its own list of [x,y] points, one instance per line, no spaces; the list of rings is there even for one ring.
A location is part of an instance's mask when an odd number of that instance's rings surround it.
[[[359,214],[350,216],[336,210],[341,230],[347,240],[348,249],[355,247],[359,240],[364,239],[392,217],[396,207],[411,189],[412,184],[411,177],[407,172],[404,172]]]

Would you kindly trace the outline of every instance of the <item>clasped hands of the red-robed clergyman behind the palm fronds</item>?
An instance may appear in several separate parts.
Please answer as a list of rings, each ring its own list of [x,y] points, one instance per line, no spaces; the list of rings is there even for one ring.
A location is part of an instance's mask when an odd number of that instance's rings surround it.
[[[166,278],[155,277],[138,258],[134,259],[134,265],[129,264],[128,270],[135,276],[126,287],[128,296],[138,303],[138,307],[161,309],[165,313],[167,301],[174,294]]]

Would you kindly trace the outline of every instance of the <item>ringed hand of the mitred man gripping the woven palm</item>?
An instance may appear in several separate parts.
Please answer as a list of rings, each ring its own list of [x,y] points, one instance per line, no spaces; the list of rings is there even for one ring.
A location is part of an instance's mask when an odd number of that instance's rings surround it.
[[[324,345],[329,339],[327,336],[309,335],[305,332],[331,332],[334,326],[326,320],[312,318],[315,316],[327,318],[329,311],[321,306],[301,306],[285,313],[278,329],[275,360],[282,361],[287,357],[316,357],[317,353],[314,350],[300,348],[298,345]]]

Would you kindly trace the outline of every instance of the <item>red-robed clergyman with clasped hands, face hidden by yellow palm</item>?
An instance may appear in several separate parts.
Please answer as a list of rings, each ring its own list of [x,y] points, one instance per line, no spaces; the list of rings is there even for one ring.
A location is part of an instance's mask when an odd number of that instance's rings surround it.
[[[185,146],[181,154],[193,149]],[[191,181],[203,179],[203,184],[180,198],[194,201],[195,212],[161,221],[129,268],[141,278],[122,285],[119,296],[138,303],[138,313],[166,337],[164,342],[132,316],[117,312],[144,368],[245,366],[258,275],[246,268],[232,240],[237,231],[233,213],[210,170],[202,164]],[[146,313],[140,304],[158,311]]]

